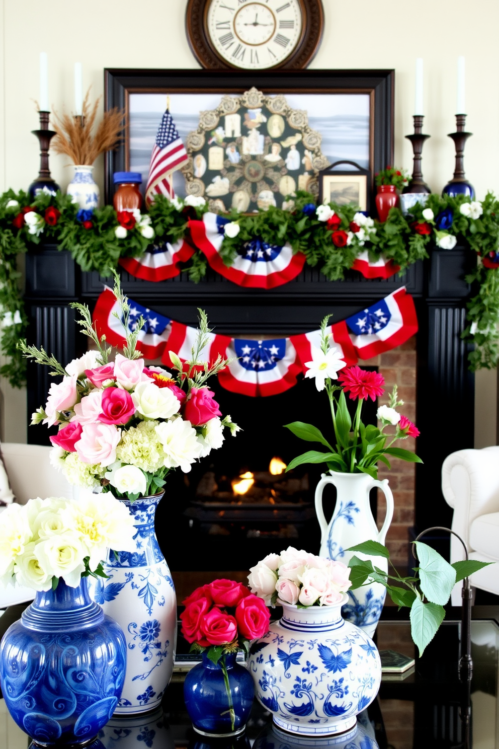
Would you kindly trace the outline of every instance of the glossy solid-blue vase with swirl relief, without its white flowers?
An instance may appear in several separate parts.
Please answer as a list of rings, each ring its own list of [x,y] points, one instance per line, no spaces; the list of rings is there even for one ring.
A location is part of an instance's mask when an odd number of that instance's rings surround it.
[[[0,682],[16,724],[43,747],[86,744],[117,706],[126,669],[123,631],[77,588],[37,592],[4,634]]]

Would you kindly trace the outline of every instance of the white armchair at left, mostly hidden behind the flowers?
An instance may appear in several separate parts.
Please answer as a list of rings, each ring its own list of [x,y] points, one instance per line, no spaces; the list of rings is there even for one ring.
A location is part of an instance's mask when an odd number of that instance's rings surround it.
[[[44,445],[1,444],[5,470],[17,503],[25,505],[34,497],[73,498],[73,486],[50,464],[50,450]],[[0,609],[33,598],[34,590],[31,588],[0,585]]]

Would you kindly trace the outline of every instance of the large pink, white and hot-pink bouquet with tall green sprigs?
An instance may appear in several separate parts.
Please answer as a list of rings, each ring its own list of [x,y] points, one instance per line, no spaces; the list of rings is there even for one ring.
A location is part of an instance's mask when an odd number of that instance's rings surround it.
[[[19,348],[25,357],[50,366],[52,375],[62,376],[31,421],[58,425],[58,434],[50,437],[52,464],[71,484],[135,500],[161,491],[169,471],[191,470],[195,461],[221,447],[225,429],[235,435],[239,427],[222,416],[206,385],[227,363],[221,357],[212,365],[200,361],[209,333],[206,315],[200,311],[191,361],[183,365],[170,352],[174,374],[145,366],[135,350],[144,321],[131,330],[128,300],[115,278],[126,346],[114,362],[109,361],[105,336],[99,338],[94,330],[88,307],[76,303],[82,333],[92,339],[94,351],[63,367],[43,349],[25,342]]]

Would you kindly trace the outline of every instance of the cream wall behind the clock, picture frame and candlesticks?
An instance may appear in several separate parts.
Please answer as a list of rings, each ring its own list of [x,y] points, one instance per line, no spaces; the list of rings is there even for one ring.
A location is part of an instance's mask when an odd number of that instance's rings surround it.
[[[499,194],[499,3],[419,0],[322,0],[325,31],[310,67],[395,68],[395,163],[411,168],[414,60],[424,59],[425,133],[423,173],[439,192],[453,173],[456,58],[466,56],[466,172],[477,196]],[[37,175],[37,127],[33,100],[38,96],[40,51],[49,55],[49,100],[58,111],[73,108],[73,64],[81,61],[84,88],[102,94],[104,67],[199,67],[184,30],[186,0],[70,0],[48,5],[0,0],[0,187],[25,188]],[[152,34],[156,34],[153,38]],[[200,73],[202,74],[202,73]],[[65,187],[71,170],[64,157],[51,157],[52,175]],[[102,163],[97,165],[102,184]],[[494,372],[477,375],[477,446],[495,443]],[[431,397],[431,394],[429,394]],[[24,394],[1,382],[2,435],[25,441]]]

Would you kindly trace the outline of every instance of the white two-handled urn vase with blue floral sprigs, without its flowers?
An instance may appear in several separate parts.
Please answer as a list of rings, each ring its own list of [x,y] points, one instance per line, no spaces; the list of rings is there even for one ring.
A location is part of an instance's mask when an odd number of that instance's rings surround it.
[[[322,491],[326,484],[333,484],[337,490],[336,505],[329,524],[325,521],[322,509]],[[386,515],[382,530],[378,530],[369,503],[369,493],[378,487],[385,494]],[[348,565],[350,557],[370,559],[373,565],[383,571],[388,571],[388,560],[384,557],[368,557],[355,551],[346,551],[364,541],[379,541],[385,543],[385,537],[394,517],[394,496],[388,486],[388,480],[377,481],[371,479],[367,473],[337,473],[322,476],[317,484],[315,494],[316,515],[321,530],[321,545],[319,556],[331,560],[339,560]],[[371,583],[352,592],[348,592],[349,600],[343,606],[343,617],[349,622],[364,629],[369,637],[373,637],[379,616],[385,603],[386,589],[381,583]]]

